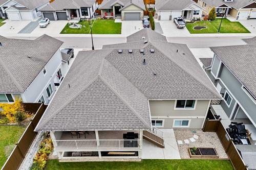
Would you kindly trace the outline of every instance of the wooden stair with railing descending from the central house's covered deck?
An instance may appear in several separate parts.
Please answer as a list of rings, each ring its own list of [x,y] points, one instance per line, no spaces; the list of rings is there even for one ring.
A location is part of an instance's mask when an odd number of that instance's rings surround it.
[[[153,130],[144,130],[143,139],[156,144],[160,148],[164,148],[163,132],[155,127],[153,127]]]

